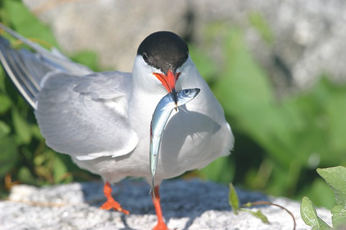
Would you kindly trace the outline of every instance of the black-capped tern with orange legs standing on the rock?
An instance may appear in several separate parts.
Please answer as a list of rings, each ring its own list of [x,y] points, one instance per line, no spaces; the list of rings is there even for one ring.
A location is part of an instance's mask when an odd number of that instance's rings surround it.
[[[223,108],[179,35],[159,31],[147,36],[132,72],[94,72],[55,48],[48,50],[1,23],[0,28],[30,48],[14,48],[0,36],[0,61],[33,107],[47,145],[104,179],[107,201],[101,208],[129,213],[112,197],[110,183],[134,176],[151,184],[150,121],[168,92],[177,103],[176,90],[200,88],[196,98],[172,112],[162,136],[152,193],[158,221],[154,230],[168,229],[161,181],[202,168],[233,148]]]

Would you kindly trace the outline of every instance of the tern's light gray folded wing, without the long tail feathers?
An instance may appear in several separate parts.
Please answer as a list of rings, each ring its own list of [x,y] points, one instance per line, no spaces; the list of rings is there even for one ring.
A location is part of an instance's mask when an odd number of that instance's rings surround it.
[[[138,137],[128,123],[131,73],[45,76],[35,111],[47,145],[80,160],[131,152]]]

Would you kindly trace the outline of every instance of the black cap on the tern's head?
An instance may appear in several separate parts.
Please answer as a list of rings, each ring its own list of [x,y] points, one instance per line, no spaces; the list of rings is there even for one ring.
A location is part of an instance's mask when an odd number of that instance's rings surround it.
[[[159,31],[147,36],[138,47],[137,55],[149,65],[167,74],[174,73],[188,58],[189,47],[180,36],[169,31]]]

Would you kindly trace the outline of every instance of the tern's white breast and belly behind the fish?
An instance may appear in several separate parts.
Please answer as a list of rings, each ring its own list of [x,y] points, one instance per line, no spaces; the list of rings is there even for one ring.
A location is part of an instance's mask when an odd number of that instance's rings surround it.
[[[229,154],[233,148],[232,131],[209,86],[193,64],[183,70],[186,77],[179,77],[177,89],[198,87],[201,91],[178,112],[173,110],[168,120],[162,136],[156,184],[187,170],[204,167],[217,157]],[[76,163],[102,174],[110,182],[126,176],[143,176],[150,180],[150,121],[157,103],[167,93],[160,89],[148,91],[134,87],[129,101],[129,122],[139,141],[130,154]]]

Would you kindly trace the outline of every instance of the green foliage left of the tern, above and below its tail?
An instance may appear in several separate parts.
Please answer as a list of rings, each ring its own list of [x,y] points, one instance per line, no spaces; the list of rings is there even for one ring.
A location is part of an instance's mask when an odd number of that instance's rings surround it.
[[[21,1],[0,2],[0,21],[24,36],[35,38],[45,47],[58,46],[49,29]],[[73,59],[98,69],[96,55],[92,52],[76,54]],[[0,195],[12,182],[41,186],[69,182],[76,178],[75,175],[77,179],[93,178],[89,172],[79,169],[70,157],[45,145],[32,109],[0,68],[0,181],[4,181],[0,183]],[[12,181],[5,183],[6,176]]]

